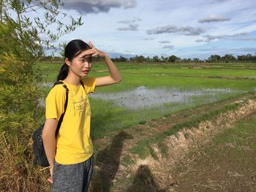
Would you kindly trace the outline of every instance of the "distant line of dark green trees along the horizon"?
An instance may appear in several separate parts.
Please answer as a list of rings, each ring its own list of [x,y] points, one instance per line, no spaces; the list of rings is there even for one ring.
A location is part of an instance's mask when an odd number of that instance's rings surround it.
[[[174,62],[256,62],[256,54],[246,54],[246,55],[237,55],[236,57],[232,54],[225,54],[223,56],[221,55],[211,55],[208,59],[201,60],[200,58],[179,58],[176,55],[170,55],[167,57],[158,55],[154,55],[152,58],[150,57],[144,57],[143,55],[135,55],[132,58],[125,58],[124,56],[120,56],[119,58],[112,58],[114,62],[134,62],[134,63],[146,63],[146,62],[168,62],[168,63],[174,63]],[[63,58],[61,57],[52,57],[52,56],[45,56],[42,58],[41,61],[52,61],[52,62],[63,62]],[[102,58],[93,58],[93,61],[103,61]]]

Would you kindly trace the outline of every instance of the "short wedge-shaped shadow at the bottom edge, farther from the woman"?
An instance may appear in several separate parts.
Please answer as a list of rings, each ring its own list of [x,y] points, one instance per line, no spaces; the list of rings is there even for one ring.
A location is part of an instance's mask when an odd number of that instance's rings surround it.
[[[154,181],[154,175],[147,165],[140,165],[132,185],[127,188],[127,192],[163,192]]]

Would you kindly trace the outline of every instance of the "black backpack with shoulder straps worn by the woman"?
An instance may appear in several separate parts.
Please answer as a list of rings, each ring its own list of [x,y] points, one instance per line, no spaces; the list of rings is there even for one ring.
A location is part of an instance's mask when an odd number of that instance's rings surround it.
[[[82,84],[83,88],[83,82],[80,81],[80,83]],[[69,89],[67,88],[67,85],[64,84],[64,82],[62,81],[58,81],[58,82],[54,82],[54,85],[63,85],[63,87],[66,89],[66,101],[64,104],[64,112],[61,114],[61,118],[59,118],[59,122],[56,128],[56,132],[55,132],[55,137],[57,137],[57,135],[59,134],[59,128],[61,127],[61,123],[62,120],[64,118],[65,112],[67,110],[67,101],[68,101],[68,96],[69,96]],[[37,128],[36,131],[34,131],[33,135],[32,135],[32,139],[33,139],[33,152],[34,152],[34,166],[40,165],[40,166],[50,166],[47,156],[45,154],[45,148],[44,145],[42,143],[42,130],[45,126],[45,123],[43,123],[42,125],[39,126],[39,128]]]

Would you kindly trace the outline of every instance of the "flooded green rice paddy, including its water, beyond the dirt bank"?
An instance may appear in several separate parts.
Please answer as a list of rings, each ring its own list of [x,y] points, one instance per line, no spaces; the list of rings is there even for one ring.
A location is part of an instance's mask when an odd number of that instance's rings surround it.
[[[92,139],[111,137],[124,128],[180,110],[236,98],[255,92],[256,88],[256,64],[253,63],[116,63],[116,66],[123,80],[89,94]],[[47,63],[35,66],[42,74],[45,96],[60,67],[61,64]],[[89,77],[105,75],[108,67],[94,63]]]

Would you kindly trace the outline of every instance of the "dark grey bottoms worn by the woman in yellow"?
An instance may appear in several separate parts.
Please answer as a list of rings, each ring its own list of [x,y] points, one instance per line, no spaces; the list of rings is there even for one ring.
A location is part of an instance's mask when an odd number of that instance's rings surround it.
[[[94,155],[78,164],[58,164],[54,161],[51,192],[87,192],[94,166]]]

